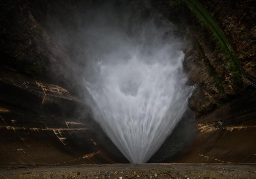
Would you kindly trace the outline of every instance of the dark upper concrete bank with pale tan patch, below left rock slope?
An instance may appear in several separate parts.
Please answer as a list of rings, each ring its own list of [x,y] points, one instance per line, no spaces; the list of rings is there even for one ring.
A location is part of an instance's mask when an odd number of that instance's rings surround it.
[[[86,105],[66,88],[0,67],[0,100],[22,109],[60,117],[79,116]]]

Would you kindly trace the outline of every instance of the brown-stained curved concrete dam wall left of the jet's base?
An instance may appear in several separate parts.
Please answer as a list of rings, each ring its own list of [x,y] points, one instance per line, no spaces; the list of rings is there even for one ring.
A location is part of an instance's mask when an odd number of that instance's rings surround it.
[[[0,165],[116,162],[78,119],[0,104]]]

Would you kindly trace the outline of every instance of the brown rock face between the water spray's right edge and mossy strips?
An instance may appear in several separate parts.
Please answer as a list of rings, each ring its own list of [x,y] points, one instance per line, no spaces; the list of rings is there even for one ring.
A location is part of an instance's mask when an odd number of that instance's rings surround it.
[[[190,108],[197,115],[210,111],[218,100],[224,98],[223,87],[215,82],[218,79],[215,70],[207,57],[200,56],[193,46],[187,49],[184,67],[188,71],[190,84],[196,86],[189,99]]]

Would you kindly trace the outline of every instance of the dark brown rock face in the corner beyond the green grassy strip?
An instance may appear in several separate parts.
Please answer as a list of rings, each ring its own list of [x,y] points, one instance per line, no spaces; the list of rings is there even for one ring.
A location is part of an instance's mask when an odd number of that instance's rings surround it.
[[[256,79],[255,2],[200,1],[219,23],[233,44],[236,55],[248,76]]]

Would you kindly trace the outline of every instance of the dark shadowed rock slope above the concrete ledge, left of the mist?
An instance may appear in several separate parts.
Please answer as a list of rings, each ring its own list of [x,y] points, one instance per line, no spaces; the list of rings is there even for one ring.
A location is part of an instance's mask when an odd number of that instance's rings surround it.
[[[77,79],[71,75],[73,68],[69,66],[68,54],[43,23],[48,17],[47,4],[38,1],[35,6],[32,2],[1,1],[1,63],[34,79],[60,84],[81,94],[77,92],[79,83],[73,83]]]

